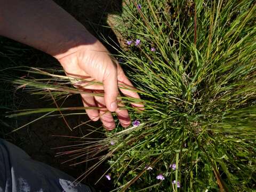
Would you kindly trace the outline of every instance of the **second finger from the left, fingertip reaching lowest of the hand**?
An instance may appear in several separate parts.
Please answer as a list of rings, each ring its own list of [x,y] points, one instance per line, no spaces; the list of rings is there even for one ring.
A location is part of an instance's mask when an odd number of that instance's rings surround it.
[[[108,111],[108,109],[106,108],[104,98],[98,97],[98,96],[96,96],[94,98],[97,103],[97,106],[101,107],[101,109],[99,109],[99,117],[100,117],[100,121],[102,122],[103,126],[109,131],[115,129],[116,124],[115,124],[114,118],[111,115],[111,113]]]

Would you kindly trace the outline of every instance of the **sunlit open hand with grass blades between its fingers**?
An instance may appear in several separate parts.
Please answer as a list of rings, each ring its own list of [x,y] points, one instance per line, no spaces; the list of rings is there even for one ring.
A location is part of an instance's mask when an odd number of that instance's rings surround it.
[[[129,89],[134,88],[125,76],[119,63],[111,58],[109,52],[98,40],[93,44],[80,45],[71,53],[66,53],[58,58],[66,74],[71,77],[84,79],[84,82],[75,84],[80,90],[89,94],[81,94],[85,107],[100,107],[100,109],[86,109],[87,115],[92,121],[100,119],[107,130],[115,129],[114,118],[110,111],[117,114],[123,127],[130,125],[130,118],[126,109],[119,109],[124,105],[118,102],[118,87],[127,97],[140,98],[137,92],[122,89],[126,85]],[[90,83],[102,82],[103,85]],[[135,89],[135,88],[134,88]],[[104,93],[104,98],[93,96],[90,93]],[[133,107],[143,108],[139,103],[132,103]]]

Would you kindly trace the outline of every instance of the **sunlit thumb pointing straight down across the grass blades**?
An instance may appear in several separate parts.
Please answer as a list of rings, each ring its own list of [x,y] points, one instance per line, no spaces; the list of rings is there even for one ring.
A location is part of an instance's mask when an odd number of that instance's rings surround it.
[[[106,107],[113,112],[117,109],[116,97],[118,95],[117,69],[114,65],[106,71],[103,78],[103,87]]]

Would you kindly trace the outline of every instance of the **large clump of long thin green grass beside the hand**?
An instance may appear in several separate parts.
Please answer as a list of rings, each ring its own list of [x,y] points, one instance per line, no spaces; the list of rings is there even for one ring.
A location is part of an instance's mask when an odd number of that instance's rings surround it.
[[[250,0],[127,2],[116,28],[127,46],[116,57],[145,103],[141,113],[127,106],[140,124],[68,154],[108,159],[121,191],[255,190],[255,14]],[[56,97],[80,93],[58,81]],[[51,82],[17,83],[42,91]]]

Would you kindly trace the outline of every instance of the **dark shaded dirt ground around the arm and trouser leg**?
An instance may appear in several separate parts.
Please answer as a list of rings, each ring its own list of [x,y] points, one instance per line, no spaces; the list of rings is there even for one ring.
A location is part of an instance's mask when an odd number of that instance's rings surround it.
[[[108,26],[107,18],[109,14],[121,14],[122,13],[122,0],[56,0],[63,9],[69,12],[79,22],[83,23],[87,29],[94,35],[103,34],[106,38],[114,39],[116,43],[120,42],[117,39],[111,28],[105,28],[102,26]],[[111,18],[110,18],[111,20]],[[108,47],[110,51],[113,51]],[[49,55],[40,51],[34,50],[31,47],[22,45],[18,42],[14,42],[10,39],[0,37],[0,69],[12,66],[33,66],[33,67],[54,67],[58,63]],[[21,72],[17,73],[18,76],[23,76]],[[73,177],[78,177],[87,167],[90,167],[93,163],[79,165],[77,167],[69,166],[68,164],[61,164],[61,162],[67,160],[67,157],[54,157],[57,149],[52,148],[70,145],[70,141],[67,138],[53,137],[52,135],[70,135],[80,137],[86,133],[86,126],[79,127],[79,129],[70,132],[67,125],[62,118],[45,118],[32,123],[26,127],[23,127],[20,131],[12,134],[7,134],[11,129],[20,127],[28,122],[33,121],[38,115],[31,115],[26,117],[19,117],[17,119],[7,119],[4,117],[6,111],[16,109],[30,109],[30,108],[44,108],[55,107],[51,105],[49,101],[35,96],[29,95],[22,90],[14,91],[12,85],[1,82],[1,105],[9,107],[9,109],[0,108],[0,125],[3,127],[0,129],[0,137],[9,140],[15,145],[25,150],[33,159],[44,162],[53,167],[56,167]],[[77,97],[69,98],[65,104],[69,107],[82,106],[81,99]],[[74,127],[80,124],[82,121],[86,121],[85,115],[69,116],[66,118],[70,127]],[[100,126],[100,123],[95,123],[95,126]],[[101,137],[102,135],[94,135],[94,137]],[[103,178],[97,185],[94,186],[94,182],[108,168],[107,164],[101,165],[95,170],[89,177],[84,180],[84,183],[90,183],[97,191],[109,191],[113,186],[111,182]]]

